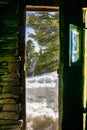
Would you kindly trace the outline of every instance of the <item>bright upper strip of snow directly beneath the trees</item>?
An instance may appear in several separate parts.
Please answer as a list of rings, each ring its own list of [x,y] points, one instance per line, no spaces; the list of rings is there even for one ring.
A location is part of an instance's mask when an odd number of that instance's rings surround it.
[[[57,72],[44,73],[41,75],[26,78],[26,88],[57,87],[57,86],[58,86]]]

